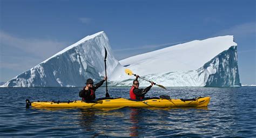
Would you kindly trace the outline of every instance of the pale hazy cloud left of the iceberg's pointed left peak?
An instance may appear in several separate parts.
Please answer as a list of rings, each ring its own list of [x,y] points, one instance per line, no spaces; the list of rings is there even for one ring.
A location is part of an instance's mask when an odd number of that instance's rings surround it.
[[[0,31],[0,68],[15,70],[19,74],[68,45],[58,40],[20,38]]]

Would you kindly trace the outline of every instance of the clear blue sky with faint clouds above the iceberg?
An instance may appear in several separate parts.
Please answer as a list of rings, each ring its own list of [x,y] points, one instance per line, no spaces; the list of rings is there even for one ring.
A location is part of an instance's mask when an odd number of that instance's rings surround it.
[[[0,82],[99,31],[118,60],[233,35],[240,82],[256,84],[254,0],[0,0]]]

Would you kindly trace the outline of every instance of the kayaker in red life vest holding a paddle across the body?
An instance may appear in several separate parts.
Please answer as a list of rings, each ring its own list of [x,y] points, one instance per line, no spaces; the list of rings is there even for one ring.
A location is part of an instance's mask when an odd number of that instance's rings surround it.
[[[132,100],[142,100],[147,92],[150,91],[150,88],[154,85],[154,82],[151,81],[151,85],[146,88],[139,88],[139,75],[136,75],[136,79],[133,80],[132,87],[130,89],[130,99]]]

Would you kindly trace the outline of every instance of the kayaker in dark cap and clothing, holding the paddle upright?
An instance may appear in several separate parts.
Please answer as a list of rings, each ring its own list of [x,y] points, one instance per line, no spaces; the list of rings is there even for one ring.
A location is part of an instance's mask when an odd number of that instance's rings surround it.
[[[99,81],[98,84],[93,85],[93,80],[87,79],[86,80],[86,86],[79,92],[79,97],[82,98],[82,101],[91,101],[95,100],[95,91],[97,88],[103,85],[104,81],[107,79],[107,77],[104,77],[102,81]]]

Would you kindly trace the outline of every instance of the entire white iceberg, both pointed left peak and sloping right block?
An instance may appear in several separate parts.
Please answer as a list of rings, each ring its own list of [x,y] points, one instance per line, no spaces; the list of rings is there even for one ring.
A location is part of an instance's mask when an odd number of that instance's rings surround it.
[[[105,75],[104,47],[110,86],[131,86],[134,77],[125,74],[125,68],[166,87],[241,85],[233,36],[194,40],[118,61],[106,34],[98,32],[66,47],[2,87],[76,87],[84,86],[87,78],[99,81]],[[149,82],[140,81],[140,86],[148,85]]]

